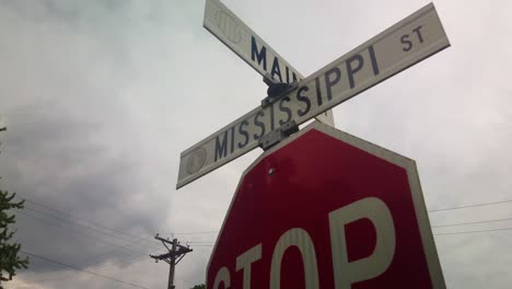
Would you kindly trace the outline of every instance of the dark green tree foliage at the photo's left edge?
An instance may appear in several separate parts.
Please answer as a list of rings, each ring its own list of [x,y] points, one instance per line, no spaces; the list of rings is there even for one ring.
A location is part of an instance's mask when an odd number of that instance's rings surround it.
[[[28,267],[28,257],[20,258],[18,256],[21,245],[9,242],[15,233],[15,231],[9,230],[9,226],[15,223],[15,216],[9,215],[8,211],[23,209],[25,203],[25,200],[13,201],[15,195],[15,193],[9,195],[8,192],[0,190],[0,282],[12,280],[12,277],[16,275],[16,269]],[[4,276],[4,271],[7,276]],[[1,285],[0,288],[2,288]]]

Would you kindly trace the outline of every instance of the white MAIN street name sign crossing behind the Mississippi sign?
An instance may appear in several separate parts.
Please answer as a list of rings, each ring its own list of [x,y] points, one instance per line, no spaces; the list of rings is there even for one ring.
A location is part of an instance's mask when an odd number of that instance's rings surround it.
[[[282,83],[291,83],[304,78],[219,0],[206,1],[202,25],[263,77],[268,76]],[[334,126],[330,111],[315,118]]]

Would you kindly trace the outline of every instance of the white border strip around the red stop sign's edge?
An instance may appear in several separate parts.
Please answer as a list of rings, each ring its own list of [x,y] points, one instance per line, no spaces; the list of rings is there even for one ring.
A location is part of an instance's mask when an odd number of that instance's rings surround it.
[[[432,229],[430,227],[430,221],[429,221],[429,216],[427,212],[427,207],[424,205],[424,199],[423,199],[423,193],[421,190],[421,185],[419,181],[419,175],[418,175],[418,170],[416,167],[416,162],[409,158],[406,158],[404,155],[400,155],[396,152],[393,152],[391,150],[384,149],[382,147],[379,147],[372,142],[365,141],[363,139],[360,139],[358,137],[354,137],[352,135],[349,135],[347,132],[344,132],[341,130],[338,130],[334,127],[321,124],[318,122],[314,122],[304,129],[300,130],[295,135],[289,137],[288,139],[283,140],[282,142],[276,144],[275,147],[270,148],[269,150],[265,151],[261,155],[258,157],[242,174],[242,177],[240,178],[238,185],[236,186],[235,194],[233,195],[231,199],[230,207],[228,209],[228,212],[224,217],[224,220],[222,221],[222,227],[221,230],[219,231],[219,235],[216,240],[216,245],[213,246],[213,250],[210,255],[210,259],[208,261],[208,266],[206,270],[206,284],[208,284],[208,271],[210,268],[210,263],[211,263],[211,257],[213,256],[213,253],[217,250],[217,245],[219,242],[219,238],[221,236],[221,233],[224,230],[224,224],[230,216],[231,208],[233,206],[233,201],[236,199],[236,196],[238,194],[240,185],[245,178],[245,175],[251,172],[254,166],[256,166],[263,159],[268,157],[269,154],[274,153],[275,151],[279,150],[280,148],[287,146],[288,143],[292,142],[296,138],[301,137],[302,135],[306,134],[307,131],[316,129],[318,131],[322,131],[324,134],[327,134],[336,139],[339,139],[350,146],[353,146],[360,150],[363,150],[372,155],[375,155],[380,159],[383,159],[385,161],[388,161],[397,166],[400,166],[407,171],[407,177],[409,180],[409,187],[410,187],[410,193],[412,195],[412,201],[415,206],[415,212],[416,212],[416,219],[418,220],[418,228],[420,231],[421,235],[421,243],[423,245],[423,251],[424,251],[424,257],[427,259],[427,265],[429,268],[429,274],[430,274],[430,279],[432,280],[432,288],[446,288],[445,282],[444,282],[444,277],[441,270],[441,265],[439,263],[439,257],[438,257],[438,251],[435,250],[435,243],[433,240],[432,235]],[[235,262],[235,261],[233,261]]]

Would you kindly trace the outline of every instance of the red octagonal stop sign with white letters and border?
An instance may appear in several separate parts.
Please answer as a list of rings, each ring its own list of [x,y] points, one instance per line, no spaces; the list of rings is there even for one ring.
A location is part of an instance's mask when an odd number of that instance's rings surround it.
[[[206,281],[445,288],[416,163],[315,122],[244,172]]]

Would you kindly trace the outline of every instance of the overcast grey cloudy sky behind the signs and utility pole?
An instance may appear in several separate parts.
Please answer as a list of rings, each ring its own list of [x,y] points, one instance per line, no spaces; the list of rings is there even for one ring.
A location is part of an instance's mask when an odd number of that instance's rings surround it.
[[[223,3],[309,76],[428,2]],[[512,199],[512,2],[434,4],[452,47],[337,106],[336,127],[416,160],[429,210]],[[266,94],[202,27],[203,8],[0,0],[0,186],[27,198],[24,251],[164,288],[168,266],[148,257],[164,253],[160,232],[194,248],[176,288],[203,282],[238,178],[261,151],[176,190],[179,153]],[[512,203],[430,213],[433,227],[508,218]],[[512,231],[494,230],[505,228],[433,229],[449,288],[510,288]],[[481,230],[493,231],[440,235]],[[7,287],[133,288],[36,257]]]

